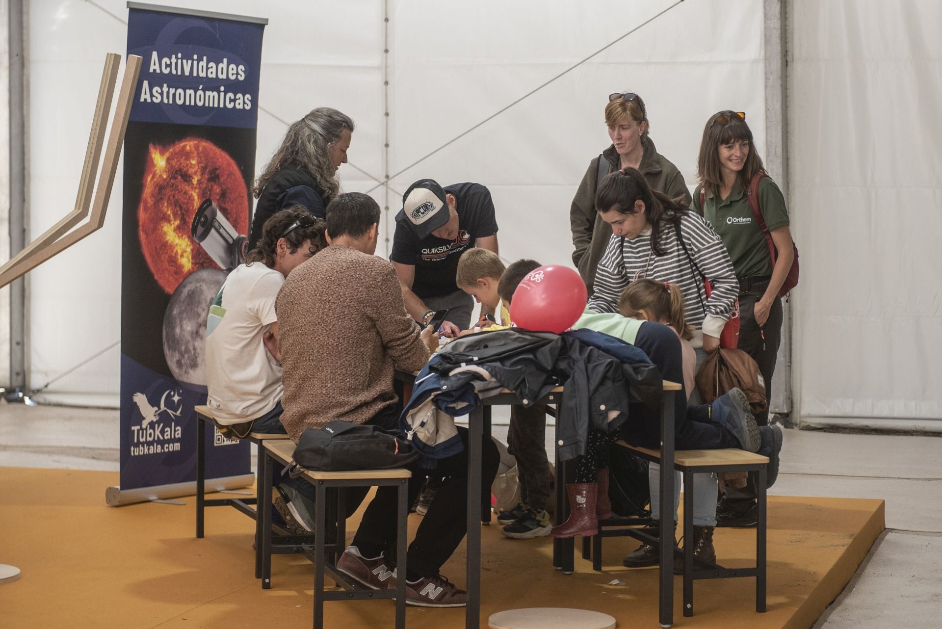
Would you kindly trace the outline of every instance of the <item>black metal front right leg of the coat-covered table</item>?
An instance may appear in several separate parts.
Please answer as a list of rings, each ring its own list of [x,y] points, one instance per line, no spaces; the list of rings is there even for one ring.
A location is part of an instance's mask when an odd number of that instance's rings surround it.
[[[674,624],[674,392],[660,403],[660,566],[659,619]]]

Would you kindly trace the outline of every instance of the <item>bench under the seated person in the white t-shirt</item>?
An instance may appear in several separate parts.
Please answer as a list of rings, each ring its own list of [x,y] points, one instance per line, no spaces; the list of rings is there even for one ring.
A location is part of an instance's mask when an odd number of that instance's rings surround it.
[[[262,538],[261,538],[261,522],[258,517],[258,505],[264,502],[271,502],[271,490],[269,488],[268,493],[264,494],[265,500],[263,500],[262,493],[262,474],[263,469],[262,465],[258,465],[258,478],[255,481],[255,497],[254,498],[213,498],[207,499],[205,497],[206,489],[206,432],[205,426],[211,425],[213,427],[219,428],[219,423],[216,421],[216,417],[213,415],[213,410],[208,406],[198,406],[196,407],[196,418],[197,418],[197,439],[196,439],[196,537],[203,538],[204,532],[204,519],[205,519],[205,508],[207,507],[233,507],[241,513],[245,513],[252,520],[255,521],[255,578],[259,579],[262,577]],[[262,432],[250,432],[247,437],[245,437],[252,444],[259,446],[259,457],[261,457],[262,444],[269,440],[278,440],[285,441],[288,439],[288,436],[284,433],[262,433]],[[261,459],[259,459],[261,460]],[[288,535],[287,532],[284,532],[284,535],[279,536],[280,541],[290,541],[294,544],[295,551],[300,552],[300,542],[304,538],[299,538],[297,536]]]

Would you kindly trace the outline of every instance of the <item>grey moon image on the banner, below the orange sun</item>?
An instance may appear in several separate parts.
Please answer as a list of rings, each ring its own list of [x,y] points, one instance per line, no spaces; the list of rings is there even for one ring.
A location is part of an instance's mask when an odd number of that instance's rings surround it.
[[[226,273],[201,268],[187,276],[164,313],[164,358],[179,382],[206,386],[206,316]]]

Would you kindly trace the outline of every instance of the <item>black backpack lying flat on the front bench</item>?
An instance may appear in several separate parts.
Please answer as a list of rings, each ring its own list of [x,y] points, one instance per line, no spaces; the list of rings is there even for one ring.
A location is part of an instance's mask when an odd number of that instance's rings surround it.
[[[335,419],[322,428],[305,428],[290,473],[300,476],[303,470],[298,466],[315,472],[388,470],[405,467],[417,458],[412,444],[400,435],[378,426]]]

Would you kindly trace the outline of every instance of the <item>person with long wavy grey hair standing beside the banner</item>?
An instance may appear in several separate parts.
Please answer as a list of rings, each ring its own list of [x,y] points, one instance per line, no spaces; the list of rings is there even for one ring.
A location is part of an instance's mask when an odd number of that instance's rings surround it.
[[[327,203],[340,189],[337,169],[347,163],[352,133],[349,116],[331,107],[317,107],[288,127],[281,147],[252,186],[258,202],[249,250],[258,244],[265,221],[279,210],[302,205],[324,218]]]

